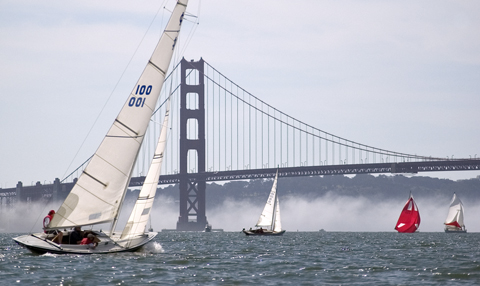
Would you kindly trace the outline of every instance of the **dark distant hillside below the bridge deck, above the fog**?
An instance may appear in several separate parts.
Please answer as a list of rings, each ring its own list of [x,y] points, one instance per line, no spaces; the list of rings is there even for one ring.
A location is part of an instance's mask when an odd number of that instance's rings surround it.
[[[207,184],[207,208],[222,204],[225,199],[246,200],[264,204],[272,180],[231,181],[223,185]],[[364,196],[373,201],[406,200],[410,191],[415,198],[451,197],[456,192],[465,202],[480,200],[480,178],[452,181],[430,177],[405,177],[356,175],[352,178],[336,176],[315,176],[279,178],[278,192],[281,196],[318,198],[328,192],[342,196]],[[178,200],[178,185],[160,188],[158,194]],[[133,194],[132,194],[133,195]]]

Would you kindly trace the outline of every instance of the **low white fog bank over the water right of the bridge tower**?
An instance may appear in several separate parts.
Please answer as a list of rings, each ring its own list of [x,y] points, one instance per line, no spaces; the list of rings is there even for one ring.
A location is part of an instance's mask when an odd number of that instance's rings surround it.
[[[408,196],[408,194],[407,194]],[[443,231],[450,198],[415,198],[420,210],[420,231]],[[366,197],[345,197],[332,193],[316,198],[287,197],[280,201],[282,227],[287,231],[395,231],[395,223],[407,201],[372,202]],[[465,205],[469,232],[480,231],[479,205]],[[207,210],[213,228],[235,231],[255,225],[263,205],[226,201]]]

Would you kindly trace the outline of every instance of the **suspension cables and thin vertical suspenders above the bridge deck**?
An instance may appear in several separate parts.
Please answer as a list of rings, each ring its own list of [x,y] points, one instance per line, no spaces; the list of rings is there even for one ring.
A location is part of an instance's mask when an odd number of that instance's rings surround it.
[[[205,83],[206,170],[234,171],[279,167],[305,167],[368,163],[396,163],[445,160],[390,151],[334,135],[278,110],[230,80],[205,62],[204,74],[188,70],[187,85]],[[134,175],[145,175],[159,135],[163,102],[171,98],[170,135],[162,174],[179,172],[180,68],[177,64],[165,79]],[[187,109],[195,110],[198,98],[187,97]],[[198,123],[189,120],[187,137],[196,139]],[[189,173],[196,173],[196,156],[189,156]],[[87,160],[88,161],[88,160]],[[85,163],[84,163],[85,164]],[[81,167],[79,167],[81,168]],[[72,172],[72,176],[73,176]],[[65,180],[65,179],[64,179]]]

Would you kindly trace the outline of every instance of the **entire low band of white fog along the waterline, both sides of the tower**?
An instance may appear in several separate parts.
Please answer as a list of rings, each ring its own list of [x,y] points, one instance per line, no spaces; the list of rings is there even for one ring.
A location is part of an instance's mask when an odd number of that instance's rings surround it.
[[[394,226],[407,201],[374,202],[369,198],[338,196],[327,193],[323,197],[308,199],[281,197],[282,226],[287,231],[395,231]],[[422,219],[420,231],[442,232],[451,198],[417,198]],[[213,228],[241,231],[254,227],[263,209],[263,202],[234,201],[227,199],[216,208],[207,209],[207,219]],[[464,202],[465,224],[469,232],[480,231],[480,203]],[[43,217],[48,210],[57,209],[60,203],[47,207],[40,204],[17,205],[15,209],[2,206],[1,232],[41,231]],[[125,205],[117,230],[123,228],[132,203]],[[175,229],[178,220],[178,203],[173,198],[158,196],[152,212],[152,227],[156,231]],[[105,228],[106,229],[106,228]]]

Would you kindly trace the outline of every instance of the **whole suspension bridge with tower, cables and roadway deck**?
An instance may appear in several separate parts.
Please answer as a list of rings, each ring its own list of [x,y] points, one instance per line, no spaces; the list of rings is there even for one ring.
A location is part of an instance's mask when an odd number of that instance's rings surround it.
[[[480,170],[480,159],[407,154],[349,140],[295,119],[249,93],[203,59],[178,63],[165,79],[130,187],[143,184],[166,99],[171,125],[159,184],[178,184],[177,230],[203,230],[206,182],[363,173]],[[120,155],[121,156],[121,155]],[[63,180],[0,189],[0,204],[55,199],[88,162]]]

